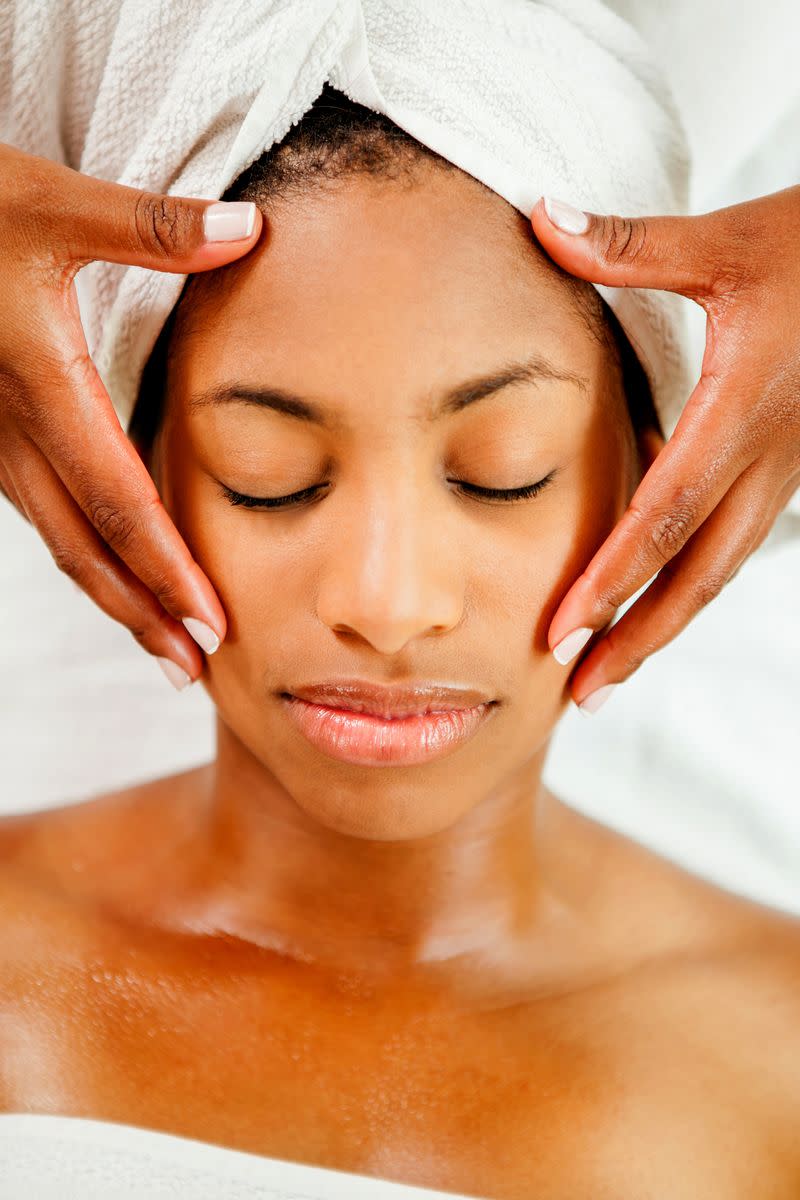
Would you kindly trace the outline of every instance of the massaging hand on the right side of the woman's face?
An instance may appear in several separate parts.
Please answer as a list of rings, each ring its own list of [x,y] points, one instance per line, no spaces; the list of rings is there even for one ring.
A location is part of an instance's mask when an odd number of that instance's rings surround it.
[[[800,187],[697,217],[549,209],[537,203],[534,232],[572,275],[678,292],[706,313],[680,421],[549,628],[570,661],[658,572],[572,676],[595,712],[722,590],[800,485]]]

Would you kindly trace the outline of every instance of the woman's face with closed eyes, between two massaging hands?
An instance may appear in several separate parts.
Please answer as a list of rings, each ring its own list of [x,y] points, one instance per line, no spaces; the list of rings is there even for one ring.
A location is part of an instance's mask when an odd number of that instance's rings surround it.
[[[505,200],[427,166],[283,202],[192,281],[152,469],[228,617],[207,690],[307,815],[403,840],[524,786],[567,702],[549,620],[639,461],[607,346]],[[439,712],[296,698],[343,682]]]

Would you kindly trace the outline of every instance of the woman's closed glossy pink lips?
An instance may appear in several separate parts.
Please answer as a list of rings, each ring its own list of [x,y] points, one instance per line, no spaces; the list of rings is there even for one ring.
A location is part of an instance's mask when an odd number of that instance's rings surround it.
[[[318,750],[359,766],[413,766],[467,742],[498,701],[443,684],[330,680],[282,692],[289,718]]]

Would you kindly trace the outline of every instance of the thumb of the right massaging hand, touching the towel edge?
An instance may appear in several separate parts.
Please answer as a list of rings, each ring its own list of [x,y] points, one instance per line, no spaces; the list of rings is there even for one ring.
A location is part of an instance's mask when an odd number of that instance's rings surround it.
[[[718,277],[724,247],[715,217],[600,216],[548,197],[530,214],[536,238],[571,275],[616,288],[680,292],[690,299],[710,295]]]

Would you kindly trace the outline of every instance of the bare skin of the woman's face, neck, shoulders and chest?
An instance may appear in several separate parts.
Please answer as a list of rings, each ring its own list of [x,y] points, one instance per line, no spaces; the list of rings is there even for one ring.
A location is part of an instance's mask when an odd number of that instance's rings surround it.
[[[217,757],[2,823],[2,1106],[485,1196],[796,1196],[798,922],[541,782],[569,702],[549,622],[646,467],[608,348],[461,173],[272,216],[192,284],[150,458],[228,614]],[[428,419],[534,352],[585,384]],[[332,428],[192,406],[234,382]],[[447,482],[554,469],[509,505]],[[331,487],[259,512],[219,481]],[[353,767],[277,696],[333,674],[499,704],[443,758]]]

